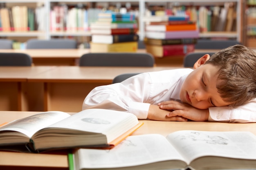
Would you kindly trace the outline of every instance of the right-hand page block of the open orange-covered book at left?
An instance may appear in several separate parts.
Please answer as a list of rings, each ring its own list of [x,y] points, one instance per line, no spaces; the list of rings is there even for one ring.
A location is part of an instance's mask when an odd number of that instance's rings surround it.
[[[108,142],[110,142],[138,123],[137,117],[132,113],[106,109],[87,109],[72,115],[68,119],[52,124],[48,128],[63,128],[66,131],[81,130],[83,134],[85,132],[88,132],[88,134],[102,133],[108,136]]]

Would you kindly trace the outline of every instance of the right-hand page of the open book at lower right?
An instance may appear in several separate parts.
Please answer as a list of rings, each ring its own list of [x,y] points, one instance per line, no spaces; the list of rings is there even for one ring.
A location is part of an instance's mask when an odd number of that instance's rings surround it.
[[[256,136],[251,132],[181,130],[166,138],[189,162],[206,155],[256,159]]]

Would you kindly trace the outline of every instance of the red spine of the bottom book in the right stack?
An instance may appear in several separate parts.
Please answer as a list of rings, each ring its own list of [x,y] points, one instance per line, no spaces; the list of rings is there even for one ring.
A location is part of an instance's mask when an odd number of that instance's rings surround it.
[[[184,55],[195,50],[194,44],[177,44],[177,45],[164,45],[163,57],[170,55]]]

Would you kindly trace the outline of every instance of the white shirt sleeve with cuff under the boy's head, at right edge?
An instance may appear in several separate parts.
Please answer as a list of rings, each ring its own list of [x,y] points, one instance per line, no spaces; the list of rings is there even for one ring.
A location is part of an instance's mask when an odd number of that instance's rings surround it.
[[[211,107],[209,121],[226,121],[237,123],[256,122],[256,99],[242,106]]]

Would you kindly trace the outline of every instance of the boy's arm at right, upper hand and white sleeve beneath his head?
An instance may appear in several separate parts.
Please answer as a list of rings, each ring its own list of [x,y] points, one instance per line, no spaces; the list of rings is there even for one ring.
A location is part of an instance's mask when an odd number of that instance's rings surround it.
[[[206,110],[194,108],[188,104],[175,101],[166,101],[159,104],[162,109],[173,109],[175,111],[167,116],[182,116],[194,121],[226,121],[236,123],[256,122],[256,99],[238,107],[223,106],[211,107]],[[207,117],[208,115],[208,117]]]

